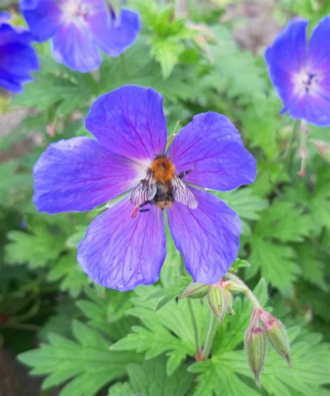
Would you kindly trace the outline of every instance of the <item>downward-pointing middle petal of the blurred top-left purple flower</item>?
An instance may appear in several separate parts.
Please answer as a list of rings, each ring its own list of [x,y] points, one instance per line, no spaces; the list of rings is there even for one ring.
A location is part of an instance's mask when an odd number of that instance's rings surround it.
[[[102,57],[86,26],[68,23],[53,36],[53,55],[56,61],[78,72],[91,72],[99,68]]]

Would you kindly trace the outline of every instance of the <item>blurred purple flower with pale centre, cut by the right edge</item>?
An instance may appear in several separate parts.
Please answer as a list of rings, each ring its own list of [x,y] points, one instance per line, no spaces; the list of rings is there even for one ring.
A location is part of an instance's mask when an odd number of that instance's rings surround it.
[[[269,77],[292,118],[330,125],[330,15],[306,44],[305,19],[294,19],[265,53]]]

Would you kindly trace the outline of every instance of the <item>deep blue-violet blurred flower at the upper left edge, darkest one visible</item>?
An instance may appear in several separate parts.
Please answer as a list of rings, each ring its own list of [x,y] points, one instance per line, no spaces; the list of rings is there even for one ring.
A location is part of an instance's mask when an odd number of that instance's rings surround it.
[[[31,34],[6,23],[8,19],[9,13],[0,13],[0,88],[19,93],[24,82],[32,81],[30,73],[39,69],[39,61]]]

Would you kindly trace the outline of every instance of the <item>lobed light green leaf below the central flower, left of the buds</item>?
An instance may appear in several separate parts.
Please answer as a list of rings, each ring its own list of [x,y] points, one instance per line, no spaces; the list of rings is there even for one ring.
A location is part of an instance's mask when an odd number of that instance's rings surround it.
[[[187,315],[186,300],[170,301],[161,310],[155,310],[159,299],[150,299],[156,287],[139,287],[137,296],[132,299],[134,308],[128,312],[137,317],[146,327],[133,326],[132,333],[111,346],[111,349],[135,350],[146,352],[146,359],[155,358],[165,352],[169,353],[168,373],[178,368],[187,355],[196,353],[194,327],[191,316]],[[198,332],[203,340],[207,331],[209,310],[203,301],[191,301],[196,316]]]

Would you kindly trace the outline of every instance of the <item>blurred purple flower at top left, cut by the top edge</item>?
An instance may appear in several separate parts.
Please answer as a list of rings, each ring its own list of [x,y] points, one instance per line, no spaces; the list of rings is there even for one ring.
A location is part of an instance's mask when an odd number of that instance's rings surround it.
[[[140,31],[139,14],[109,13],[104,0],[22,0],[21,10],[36,40],[52,38],[56,61],[78,72],[97,69],[102,57],[122,54]]]

